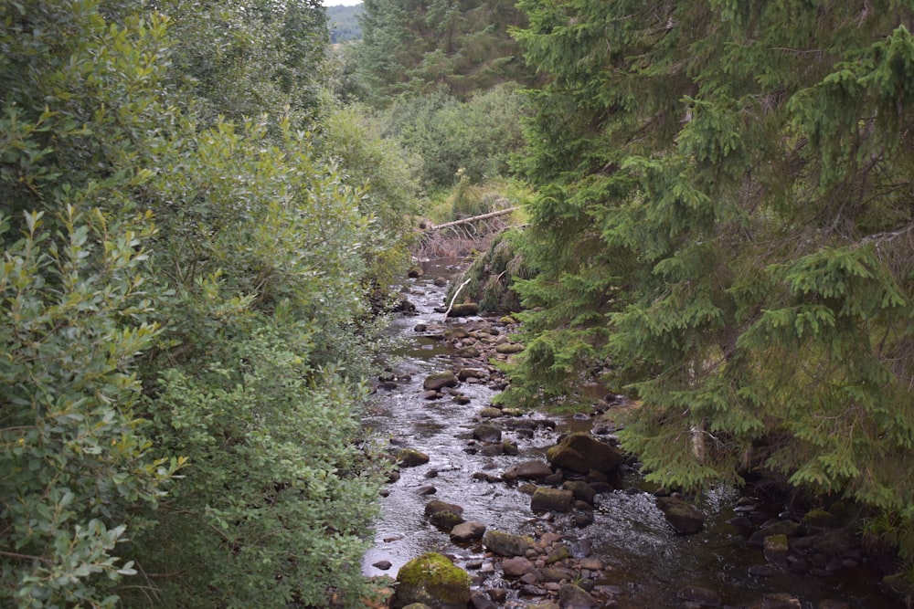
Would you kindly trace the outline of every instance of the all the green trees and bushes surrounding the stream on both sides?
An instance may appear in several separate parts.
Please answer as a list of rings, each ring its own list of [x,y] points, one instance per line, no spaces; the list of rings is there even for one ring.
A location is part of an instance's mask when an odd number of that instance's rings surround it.
[[[911,595],[909,3],[2,5],[5,603],[370,595],[386,287],[515,205],[502,400],[629,394],[649,477],[849,502]]]

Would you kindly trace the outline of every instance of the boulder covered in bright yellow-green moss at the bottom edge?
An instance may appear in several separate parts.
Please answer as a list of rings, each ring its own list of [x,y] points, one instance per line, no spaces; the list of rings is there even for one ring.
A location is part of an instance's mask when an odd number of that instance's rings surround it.
[[[392,607],[413,603],[431,609],[463,609],[470,602],[470,575],[437,552],[404,564],[397,575]]]

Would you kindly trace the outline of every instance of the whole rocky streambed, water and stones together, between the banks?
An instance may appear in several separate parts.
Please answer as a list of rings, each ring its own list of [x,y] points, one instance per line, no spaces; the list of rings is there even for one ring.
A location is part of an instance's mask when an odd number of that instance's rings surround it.
[[[368,420],[399,463],[363,562],[399,580],[391,606],[902,606],[844,514],[645,484],[615,446],[623,400],[562,417],[495,407],[505,379],[492,362],[523,346],[509,318],[445,319],[452,262],[410,281],[390,328],[407,341]]]

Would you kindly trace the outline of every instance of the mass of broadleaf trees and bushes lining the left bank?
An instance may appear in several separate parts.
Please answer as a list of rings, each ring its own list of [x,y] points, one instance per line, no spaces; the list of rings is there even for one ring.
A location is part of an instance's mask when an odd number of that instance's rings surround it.
[[[333,150],[323,9],[242,4],[3,4],[0,604],[370,592],[364,244],[394,272],[409,188]]]

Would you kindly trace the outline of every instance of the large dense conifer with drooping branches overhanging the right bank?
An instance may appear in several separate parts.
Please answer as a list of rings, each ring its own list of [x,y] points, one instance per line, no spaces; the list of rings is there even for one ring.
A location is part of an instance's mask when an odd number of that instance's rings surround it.
[[[650,478],[768,467],[912,530],[909,3],[519,6],[542,272],[506,399],[600,371]]]

